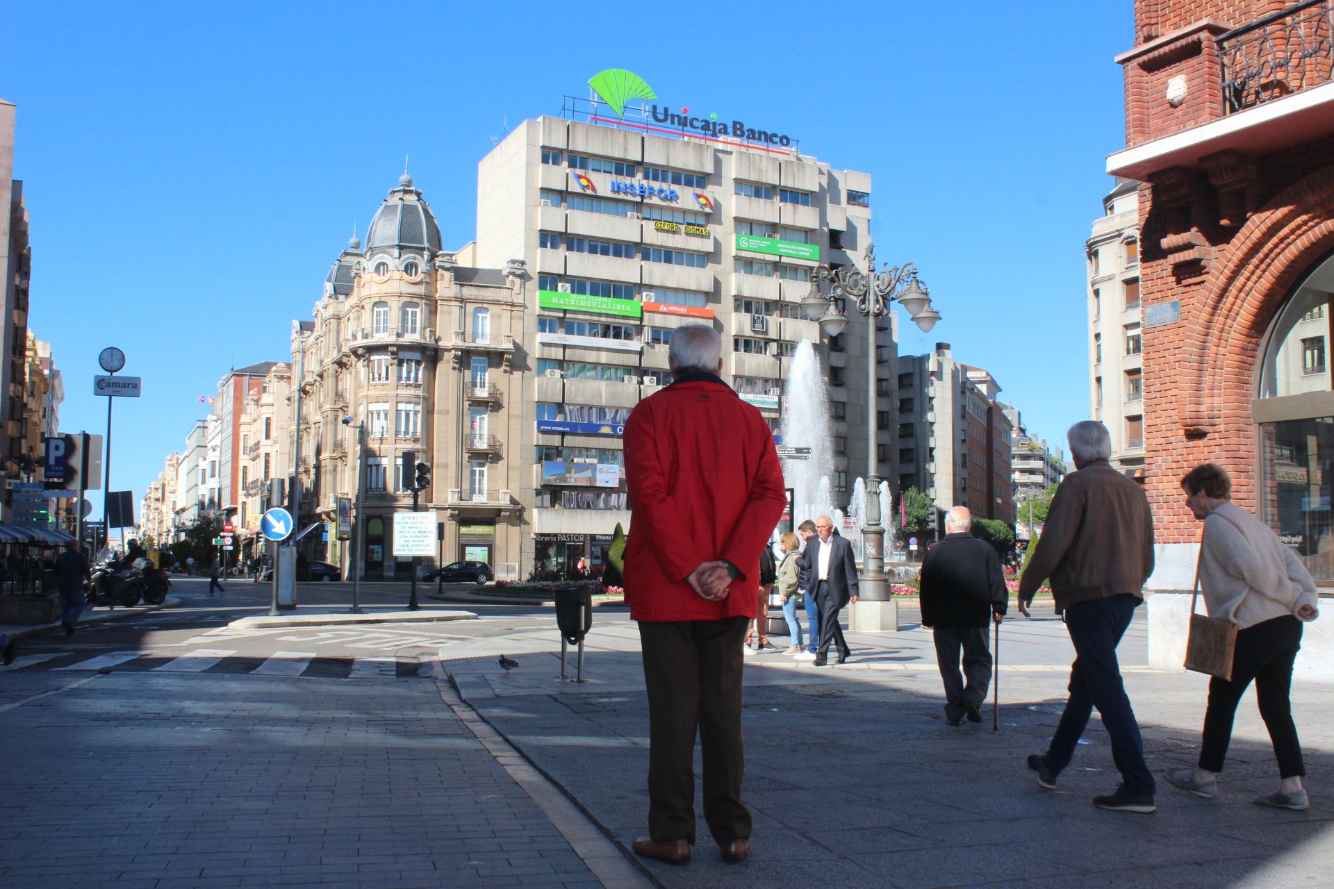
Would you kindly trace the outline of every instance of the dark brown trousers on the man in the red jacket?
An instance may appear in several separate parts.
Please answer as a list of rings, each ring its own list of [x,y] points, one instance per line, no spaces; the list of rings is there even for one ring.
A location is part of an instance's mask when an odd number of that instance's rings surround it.
[[[744,617],[640,621],[648,693],[648,836],[695,842],[695,734],[704,765],[704,821],[718,845],[750,838],[742,802]]]

